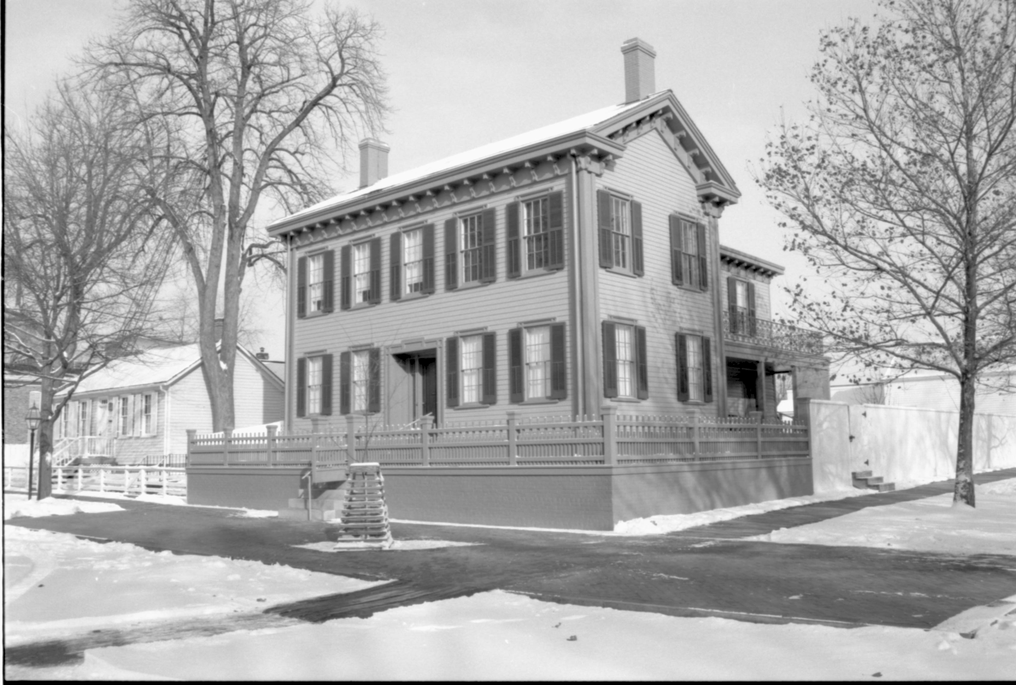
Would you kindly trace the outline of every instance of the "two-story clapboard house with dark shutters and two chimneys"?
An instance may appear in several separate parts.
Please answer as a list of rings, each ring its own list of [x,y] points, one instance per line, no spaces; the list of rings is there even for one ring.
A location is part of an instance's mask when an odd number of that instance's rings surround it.
[[[828,397],[813,334],[771,322],[781,267],[719,244],[740,192],[624,44],[626,98],[387,176],[276,221],[290,254],[287,426],[366,415],[775,416],[772,376]]]

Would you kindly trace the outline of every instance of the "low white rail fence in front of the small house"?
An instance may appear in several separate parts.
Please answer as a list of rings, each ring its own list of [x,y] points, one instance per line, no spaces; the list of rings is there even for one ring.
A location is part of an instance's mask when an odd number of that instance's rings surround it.
[[[4,490],[26,491],[27,467],[3,468]],[[38,471],[33,474],[33,492],[38,490]],[[55,466],[53,492],[119,492],[122,494],[187,495],[187,473],[183,468],[110,466]]]

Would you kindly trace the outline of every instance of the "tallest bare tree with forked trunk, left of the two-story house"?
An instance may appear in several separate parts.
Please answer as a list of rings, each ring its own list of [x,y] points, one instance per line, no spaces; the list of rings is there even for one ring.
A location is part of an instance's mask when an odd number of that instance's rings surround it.
[[[382,128],[379,26],[303,0],[133,0],[86,62],[130,93],[173,174],[147,189],[183,243],[198,298],[202,372],[215,430],[234,427],[240,293],[259,263],[283,268],[264,199],[320,200],[333,155]],[[214,320],[224,319],[220,350]]]

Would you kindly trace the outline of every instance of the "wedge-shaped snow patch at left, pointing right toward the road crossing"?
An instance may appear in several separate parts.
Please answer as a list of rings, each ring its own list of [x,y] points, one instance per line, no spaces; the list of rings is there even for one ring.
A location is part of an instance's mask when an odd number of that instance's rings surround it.
[[[279,564],[150,552],[4,526],[5,634],[15,642],[112,624],[254,612],[375,585]]]

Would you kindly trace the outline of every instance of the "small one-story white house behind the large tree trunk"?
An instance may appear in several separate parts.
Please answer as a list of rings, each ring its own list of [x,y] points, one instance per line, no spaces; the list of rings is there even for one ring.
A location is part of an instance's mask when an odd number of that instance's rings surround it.
[[[278,363],[237,346],[238,426],[282,418]],[[58,393],[58,401],[63,394]],[[57,419],[54,460],[100,457],[118,463],[187,452],[187,429],[212,429],[198,345],[150,349],[86,378]]]

